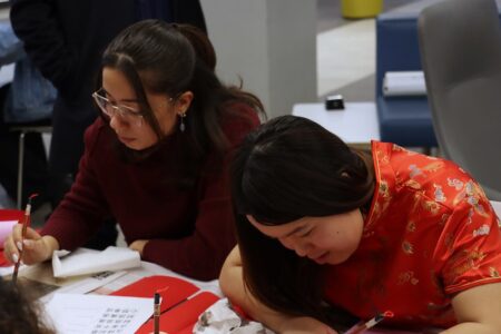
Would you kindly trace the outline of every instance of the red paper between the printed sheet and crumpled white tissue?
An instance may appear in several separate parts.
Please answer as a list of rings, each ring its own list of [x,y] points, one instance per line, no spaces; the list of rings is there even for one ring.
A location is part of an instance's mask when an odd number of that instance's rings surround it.
[[[141,278],[111,295],[150,298],[156,292],[161,296],[160,331],[169,334],[191,333],[198,316],[219,299],[213,293],[200,292],[187,281],[161,275]],[[150,318],[136,333],[149,334],[153,331],[154,320]]]

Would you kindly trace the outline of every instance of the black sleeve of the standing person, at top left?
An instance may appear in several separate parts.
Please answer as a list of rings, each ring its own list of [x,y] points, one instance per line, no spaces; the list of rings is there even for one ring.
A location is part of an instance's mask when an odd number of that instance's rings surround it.
[[[62,94],[76,82],[75,55],[67,48],[53,0],[12,0],[10,20],[31,61]]]

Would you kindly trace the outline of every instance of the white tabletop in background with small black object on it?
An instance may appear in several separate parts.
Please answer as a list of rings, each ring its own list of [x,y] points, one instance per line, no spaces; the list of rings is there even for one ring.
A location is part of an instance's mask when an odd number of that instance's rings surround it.
[[[374,102],[348,102],[343,110],[326,110],[324,104],[298,104],[292,114],[320,124],[348,145],[367,146],[381,138]]]

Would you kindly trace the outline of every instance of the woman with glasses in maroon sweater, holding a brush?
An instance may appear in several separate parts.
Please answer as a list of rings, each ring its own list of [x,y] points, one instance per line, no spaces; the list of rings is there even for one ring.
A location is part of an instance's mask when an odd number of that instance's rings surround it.
[[[216,278],[235,245],[227,163],[259,120],[259,100],[225,87],[207,37],[190,26],[146,20],[105,50],[101,117],[70,193],[40,234],[21,244],[16,228],[8,258],[33,264],[55,249],[81,246],[115,217],[141,258],[197,279]]]

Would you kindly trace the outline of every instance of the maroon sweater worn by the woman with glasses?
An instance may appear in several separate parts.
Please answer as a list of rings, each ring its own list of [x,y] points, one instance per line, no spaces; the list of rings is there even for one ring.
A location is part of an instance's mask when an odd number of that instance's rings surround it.
[[[224,131],[232,148],[258,125],[245,105],[232,108],[248,117],[233,117]],[[188,125],[189,126],[189,125]],[[125,163],[114,146],[115,132],[100,119],[86,131],[86,150],[71,190],[50,216],[42,235],[58,239],[61,249],[84,245],[104,219],[115,217],[127,244],[149,239],[143,259],[196,279],[217,278],[224,259],[235,246],[229,198],[228,164],[212,156],[196,185],[179,190],[167,185],[166,174],[179,153],[167,140],[161,150],[140,163]],[[228,155],[229,156],[229,155]],[[220,167],[214,173],[214,167]],[[170,169],[171,170],[171,169]]]

